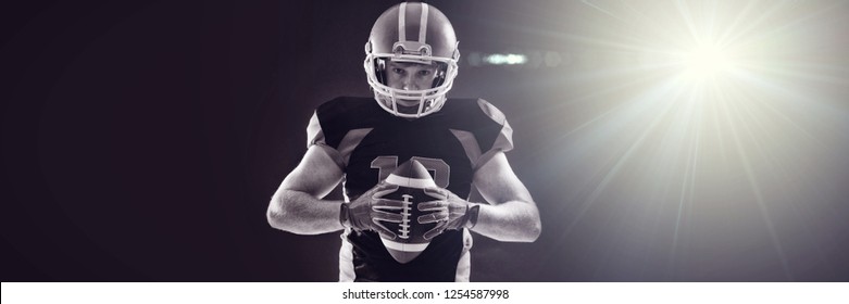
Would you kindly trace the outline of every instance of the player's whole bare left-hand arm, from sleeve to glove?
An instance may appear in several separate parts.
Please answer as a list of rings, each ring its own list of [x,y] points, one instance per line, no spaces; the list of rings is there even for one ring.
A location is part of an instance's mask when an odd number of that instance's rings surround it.
[[[286,176],[272,197],[266,213],[269,224],[298,235],[342,229],[339,221],[342,201],[322,200],[341,178],[341,168],[324,148],[310,147],[301,163]]]

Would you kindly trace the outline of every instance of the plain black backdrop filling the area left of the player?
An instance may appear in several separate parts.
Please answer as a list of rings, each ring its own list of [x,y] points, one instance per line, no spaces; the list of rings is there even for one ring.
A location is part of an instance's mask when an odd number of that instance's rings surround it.
[[[264,214],[312,109],[365,96],[394,1],[16,3],[2,13],[3,281],[335,280]]]

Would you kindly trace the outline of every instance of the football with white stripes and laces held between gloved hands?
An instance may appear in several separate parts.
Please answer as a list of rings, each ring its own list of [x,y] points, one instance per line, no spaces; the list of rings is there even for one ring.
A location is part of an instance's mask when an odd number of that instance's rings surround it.
[[[416,206],[421,202],[433,200],[424,193],[424,189],[435,187],[436,183],[427,169],[415,160],[401,164],[386,178],[386,182],[398,186],[398,190],[384,198],[403,201],[404,204],[401,210],[387,211],[398,212],[403,217],[401,223],[383,223],[397,237],[394,240],[382,237],[382,241],[395,261],[405,264],[419,256],[429,244],[429,241],[424,239],[424,233],[436,227],[436,223],[419,224],[416,218],[423,213]]]

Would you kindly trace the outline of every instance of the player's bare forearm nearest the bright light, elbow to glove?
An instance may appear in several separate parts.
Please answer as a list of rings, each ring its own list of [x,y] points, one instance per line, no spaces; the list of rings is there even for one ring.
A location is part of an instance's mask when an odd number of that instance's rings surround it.
[[[472,231],[503,242],[533,242],[541,231],[539,211],[520,201],[482,204]]]

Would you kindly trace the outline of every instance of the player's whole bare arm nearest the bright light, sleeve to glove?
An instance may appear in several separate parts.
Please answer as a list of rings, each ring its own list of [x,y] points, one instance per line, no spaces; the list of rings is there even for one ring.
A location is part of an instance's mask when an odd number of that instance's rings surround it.
[[[499,241],[533,242],[539,237],[539,211],[503,152],[475,172],[474,183],[490,204],[480,204],[472,231]]]

